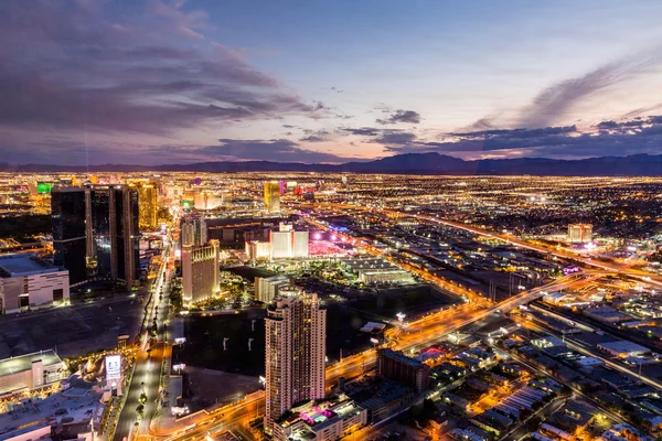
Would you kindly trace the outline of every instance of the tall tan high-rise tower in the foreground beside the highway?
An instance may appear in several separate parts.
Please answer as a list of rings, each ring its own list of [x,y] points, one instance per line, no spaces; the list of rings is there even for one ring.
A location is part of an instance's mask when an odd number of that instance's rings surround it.
[[[284,291],[265,319],[267,432],[295,404],[324,397],[327,311],[317,294]]]

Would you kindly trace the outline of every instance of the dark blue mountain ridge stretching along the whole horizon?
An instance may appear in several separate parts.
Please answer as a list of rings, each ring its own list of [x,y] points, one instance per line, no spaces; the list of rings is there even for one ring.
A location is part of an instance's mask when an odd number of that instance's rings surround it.
[[[349,172],[385,174],[450,174],[450,175],[521,175],[538,176],[659,176],[662,175],[662,154],[600,157],[581,160],[545,158],[482,159],[465,161],[439,153],[405,153],[366,162],[344,164],[305,164],[270,161],[212,161],[190,164],[128,165],[104,164],[47,165],[0,163],[3,172]]]

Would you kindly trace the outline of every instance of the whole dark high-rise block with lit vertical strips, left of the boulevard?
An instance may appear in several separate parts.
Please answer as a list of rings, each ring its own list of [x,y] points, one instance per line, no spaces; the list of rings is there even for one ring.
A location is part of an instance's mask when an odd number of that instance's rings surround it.
[[[140,276],[136,189],[57,186],[53,195],[54,262],[70,271],[71,283],[100,278],[135,286]]]

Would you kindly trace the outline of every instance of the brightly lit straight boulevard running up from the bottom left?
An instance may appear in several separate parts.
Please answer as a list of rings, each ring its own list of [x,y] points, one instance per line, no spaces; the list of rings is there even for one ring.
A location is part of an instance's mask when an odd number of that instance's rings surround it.
[[[145,392],[147,401],[145,404],[143,418],[140,419],[138,433],[145,433],[149,429],[150,418],[157,410],[158,401],[160,401],[161,386],[161,368],[163,365],[163,356],[168,353],[166,321],[168,320],[169,300],[170,300],[170,260],[171,248],[166,247],[162,255],[162,263],[157,272],[156,281],[152,284],[152,294],[148,303],[145,334],[142,336],[142,351],[136,358],[136,367],[134,376],[128,389],[125,391],[126,400],[119,420],[115,429],[114,440],[121,441],[125,438],[131,440],[136,433],[136,422],[138,421],[137,408],[140,405],[140,396]],[[159,300],[160,293],[162,300]],[[150,344],[150,332],[152,322],[157,321],[157,338],[151,346],[151,351],[147,351]]]

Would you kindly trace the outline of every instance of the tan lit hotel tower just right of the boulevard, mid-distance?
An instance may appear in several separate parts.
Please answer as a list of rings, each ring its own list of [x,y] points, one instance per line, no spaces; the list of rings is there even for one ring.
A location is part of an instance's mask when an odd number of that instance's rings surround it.
[[[210,245],[182,247],[182,284],[184,304],[195,303],[218,293],[218,240]]]

